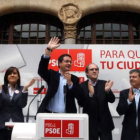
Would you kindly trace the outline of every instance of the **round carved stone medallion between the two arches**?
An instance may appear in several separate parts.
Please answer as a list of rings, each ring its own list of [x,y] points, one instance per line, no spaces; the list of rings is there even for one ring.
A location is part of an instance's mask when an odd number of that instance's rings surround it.
[[[75,24],[81,18],[82,11],[78,5],[68,3],[60,8],[58,16],[64,24]]]

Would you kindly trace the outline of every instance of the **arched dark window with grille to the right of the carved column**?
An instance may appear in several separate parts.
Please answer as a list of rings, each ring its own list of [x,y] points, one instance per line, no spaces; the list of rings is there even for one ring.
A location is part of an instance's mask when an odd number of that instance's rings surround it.
[[[139,44],[140,14],[102,12],[81,19],[77,44]]]

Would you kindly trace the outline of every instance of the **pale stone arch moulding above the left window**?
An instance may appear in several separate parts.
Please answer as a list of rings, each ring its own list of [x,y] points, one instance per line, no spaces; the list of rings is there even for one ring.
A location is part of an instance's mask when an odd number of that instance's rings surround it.
[[[18,12],[38,12],[57,17],[58,6],[52,3],[52,0],[0,1],[0,16]]]

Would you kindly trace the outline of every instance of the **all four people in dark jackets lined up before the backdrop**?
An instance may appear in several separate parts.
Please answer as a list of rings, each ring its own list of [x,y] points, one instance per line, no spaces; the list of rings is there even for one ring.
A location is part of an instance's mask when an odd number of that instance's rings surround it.
[[[77,113],[75,99],[89,116],[89,140],[112,140],[113,119],[108,103],[115,101],[111,90],[113,81],[100,80],[99,67],[90,63],[86,66],[87,80],[79,84],[79,78],[70,73],[72,58],[63,54],[58,58],[59,71],[48,69],[51,52],[60,46],[57,37],[51,38],[41,56],[38,74],[48,90],[37,113]],[[120,92],[116,108],[124,115],[121,140],[140,140],[140,70],[129,72],[131,87]],[[0,140],[10,140],[12,129],[5,122],[24,122],[22,109],[27,105],[28,91],[35,79],[24,87],[20,85],[20,73],[10,67],[5,72],[4,84],[0,83]]]

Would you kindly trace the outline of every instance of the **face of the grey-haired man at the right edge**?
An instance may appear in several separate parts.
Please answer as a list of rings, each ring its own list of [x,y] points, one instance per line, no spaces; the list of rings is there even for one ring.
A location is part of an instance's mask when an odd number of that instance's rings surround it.
[[[137,72],[130,73],[130,84],[134,88],[140,88],[140,75]]]

